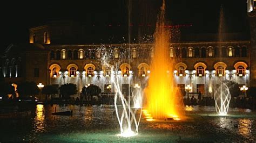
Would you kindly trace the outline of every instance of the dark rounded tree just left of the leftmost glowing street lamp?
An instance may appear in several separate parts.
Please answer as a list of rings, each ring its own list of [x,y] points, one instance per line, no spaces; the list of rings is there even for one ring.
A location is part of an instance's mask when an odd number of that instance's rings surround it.
[[[22,82],[18,84],[17,91],[19,96],[27,97],[32,95],[37,95],[39,92],[39,88],[35,82]]]

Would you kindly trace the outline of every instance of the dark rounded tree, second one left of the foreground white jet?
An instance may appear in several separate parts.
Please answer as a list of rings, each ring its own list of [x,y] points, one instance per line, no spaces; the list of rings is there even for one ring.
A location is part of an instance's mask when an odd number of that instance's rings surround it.
[[[59,87],[59,93],[62,98],[69,99],[71,95],[77,94],[77,85],[68,83]]]

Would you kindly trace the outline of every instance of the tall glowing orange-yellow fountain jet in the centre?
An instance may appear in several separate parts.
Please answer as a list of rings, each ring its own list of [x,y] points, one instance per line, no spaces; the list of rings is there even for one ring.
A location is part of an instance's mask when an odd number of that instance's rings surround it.
[[[169,57],[170,30],[165,27],[165,1],[154,34],[154,55],[150,64],[150,77],[145,89],[146,110],[149,120],[178,118],[181,116],[177,105],[181,94],[173,79],[175,61]]]

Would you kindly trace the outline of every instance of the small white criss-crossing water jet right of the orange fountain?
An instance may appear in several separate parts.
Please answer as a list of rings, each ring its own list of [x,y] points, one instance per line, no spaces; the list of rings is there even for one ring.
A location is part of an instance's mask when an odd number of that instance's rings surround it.
[[[214,94],[215,109],[219,116],[226,116],[230,105],[230,90],[225,83],[220,83]]]

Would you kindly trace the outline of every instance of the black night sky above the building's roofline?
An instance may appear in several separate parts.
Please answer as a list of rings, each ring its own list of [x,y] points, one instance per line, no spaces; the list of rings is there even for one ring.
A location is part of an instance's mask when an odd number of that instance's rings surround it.
[[[32,2],[32,1],[31,1]],[[160,0],[94,0],[94,1],[34,1],[2,4],[2,35],[0,52],[12,42],[28,42],[28,28],[53,20],[75,20],[87,25],[127,25],[128,8],[131,23],[155,24]],[[190,32],[218,31],[220,5],[224,6],[226,32],[247,29],[246,0],[166,0],[166,16],[172,25],[192,24]],[[103,31],[104,33],[104,31]],[[182,33],[181,33],[182,34]]]

